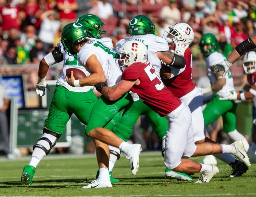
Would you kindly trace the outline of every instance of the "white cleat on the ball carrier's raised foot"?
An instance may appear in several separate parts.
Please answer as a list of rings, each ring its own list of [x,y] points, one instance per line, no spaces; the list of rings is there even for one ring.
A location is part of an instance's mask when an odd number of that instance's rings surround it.
[[[136,175],[139,168],[140,151],[142,150],[140,144],[132,144],[126,156],[129,159],[132,169],[132,175]]]

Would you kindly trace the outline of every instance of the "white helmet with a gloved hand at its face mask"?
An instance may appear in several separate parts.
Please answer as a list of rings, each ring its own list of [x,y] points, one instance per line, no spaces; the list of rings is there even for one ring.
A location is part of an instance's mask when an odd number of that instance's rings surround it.
[[[194,32],[187,23],[174,23],[168,28],[169,32],[165,31],[163,35],[168,43],[177,44],[182,42],[182,44],[190,45],[193,42]]]

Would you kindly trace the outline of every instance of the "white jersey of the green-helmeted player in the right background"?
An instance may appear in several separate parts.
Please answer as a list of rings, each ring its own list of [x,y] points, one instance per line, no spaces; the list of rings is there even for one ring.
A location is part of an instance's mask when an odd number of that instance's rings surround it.
[[[223,54],[215,51],[211,53],[208,57],[206,57],[205,61],[206,61],[207,75],[211,81],[211,84],[213,84],[217,81],[217,79],[214,73],[212,72],[212,70],[210,69],[210,66],[213,66],[215,63],[218,63],[218,62],[226,61],[226,57]],[[218,92],[215,92],[216,94],[225,95],[228,92],[235,91],[234,82],[233,82],[233,78],[231,76],[230,70],[225,75],[225,78],[226,78],[226,84],[222,87],[221,90],[219,90]]]

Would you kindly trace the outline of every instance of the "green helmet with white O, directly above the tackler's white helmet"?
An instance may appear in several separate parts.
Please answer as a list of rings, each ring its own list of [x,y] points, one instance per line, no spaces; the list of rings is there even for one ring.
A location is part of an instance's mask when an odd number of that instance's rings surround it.
[[[155,35],[155,25],[145,15],[137,15],[130,20],[129,31],[131,36],[154,34]]]

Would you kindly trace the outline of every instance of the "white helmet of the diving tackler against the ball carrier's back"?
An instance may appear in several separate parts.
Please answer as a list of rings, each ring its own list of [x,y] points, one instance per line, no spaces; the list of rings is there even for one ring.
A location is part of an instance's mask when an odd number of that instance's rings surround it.
[[[134,62],[146,62],[148,59],[148,49],[146,45],[137,40],[129,40],[125,42],[118,50],[120,60],[124,66],[129,66]]]

